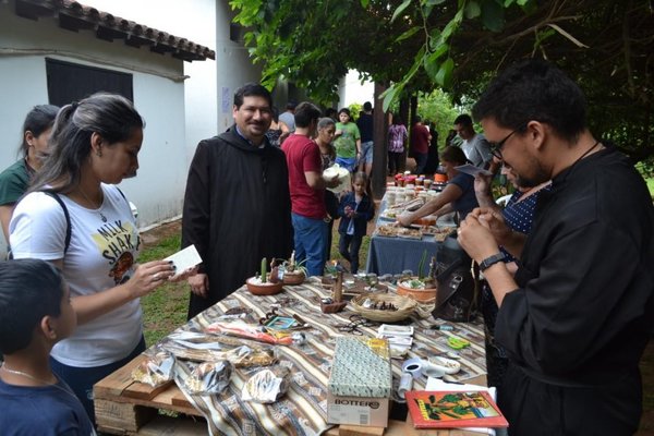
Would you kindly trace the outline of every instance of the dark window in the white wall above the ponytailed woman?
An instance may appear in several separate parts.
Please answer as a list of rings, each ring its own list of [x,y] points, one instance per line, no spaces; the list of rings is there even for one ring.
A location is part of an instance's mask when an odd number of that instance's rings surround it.
[[[101,90],[134,101],[132,74],[53,59],[46,59],[46,71],[50,105],[68,105]]]

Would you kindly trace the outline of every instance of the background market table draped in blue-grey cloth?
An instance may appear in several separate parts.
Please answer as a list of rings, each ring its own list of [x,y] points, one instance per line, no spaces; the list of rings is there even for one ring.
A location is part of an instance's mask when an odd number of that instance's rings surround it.
[[[382,225],[392,222],[383,217],[383,211],[385,209],[386,201],[383,199],[379,205],[375,230]],[[437,225],[455,227],[456,223],[452,220],[452,217],[453,214],[444,216],[438,219]],[[422,237],[422,239],[389,238],[382,237],[375,232],[371,238],[365,270],[377,275],[395,275],[410,269],[413,274],[416,274],[423,253],[426,251],[428,264],[428,259],[436,255],[438,244],[439,242],[437,242],[434,237]]]

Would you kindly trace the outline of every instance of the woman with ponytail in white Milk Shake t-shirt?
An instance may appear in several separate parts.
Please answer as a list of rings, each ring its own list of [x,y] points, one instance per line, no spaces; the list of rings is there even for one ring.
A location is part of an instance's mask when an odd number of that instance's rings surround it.
[[[50,364],[94,422],[93,385],[145,349],[140,298],[173,276],[186,277],[168,262],[135,264],[141,239],[114,184],[136,174],[143,126],[132,102],[118,95],[64,106],[50,157],[10,222],[13,256],[51,262],[70,286],[80,327],[55,346]]]

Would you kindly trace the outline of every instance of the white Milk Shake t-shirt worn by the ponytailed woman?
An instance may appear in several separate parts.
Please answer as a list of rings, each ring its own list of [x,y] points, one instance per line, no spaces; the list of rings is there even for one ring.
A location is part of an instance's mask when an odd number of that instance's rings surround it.
[[[10,222],[15,258],[63,258],[71,296],[88,295],[124,283],[134,272],[141,240],[128,201],[102,184],[105,201],[87,209],[61,195],[71,217],[71,242],[64,255],[65,216],[56,199],[41,192],[25,196]],[[92,367],[125,358],[142,331],[140,300],[133,300],[84,325],[57,343],[51,355],[70,366]]]

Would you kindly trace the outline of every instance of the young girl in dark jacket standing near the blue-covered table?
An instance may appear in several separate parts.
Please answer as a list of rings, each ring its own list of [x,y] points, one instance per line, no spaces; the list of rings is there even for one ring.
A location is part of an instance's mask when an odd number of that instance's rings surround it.
[[[359,270],[359,249],[366,233],[367,221],[375,216],[375,204],[365,172],[358,172],[352,178],[352,192],[341,199],[338,215],[341,217],[338,250],[350,262],[351,271],[355,274]]]

